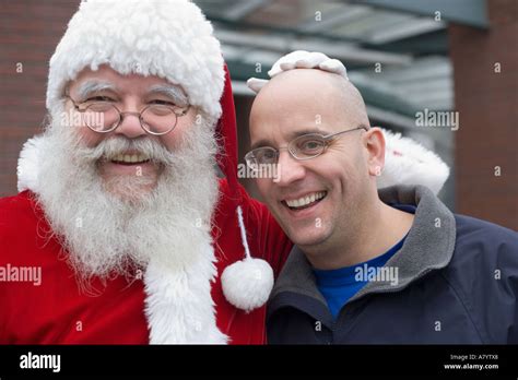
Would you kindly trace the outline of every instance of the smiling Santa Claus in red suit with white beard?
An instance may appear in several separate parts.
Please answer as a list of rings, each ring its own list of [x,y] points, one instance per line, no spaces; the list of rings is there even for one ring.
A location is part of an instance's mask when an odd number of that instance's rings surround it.
[[[23,191],[0,200],[0,343],[264,343],[292,245],[238,185],[231,81],[200,9],[82,2],[46,105]],[[32,269],[38,283],[13,275]]]

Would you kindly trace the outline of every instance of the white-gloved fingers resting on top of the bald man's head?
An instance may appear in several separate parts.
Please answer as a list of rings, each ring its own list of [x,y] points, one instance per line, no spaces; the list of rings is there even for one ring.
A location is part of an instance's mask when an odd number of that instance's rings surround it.
[[[268,72],[270,78],[273,78],[281,72],[293,69],[320,69],[333,74],[348,78],[348,70],[338,59],[331,59],[322,52],[296,50],[284,57],[281,57],[273,63],[271,70]],[[256,94],[268,83],[268,80],[250,78],[247,81],[248,87]]]

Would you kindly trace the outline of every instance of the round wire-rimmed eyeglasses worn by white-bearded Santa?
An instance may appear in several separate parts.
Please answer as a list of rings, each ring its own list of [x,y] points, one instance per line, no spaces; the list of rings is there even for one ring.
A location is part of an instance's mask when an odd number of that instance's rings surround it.
[[[139,118],[142,129],[153,135],[163,135],[175,129],[178,117],[185,116],[190,108],[169,106],[162,104],[151,104],[144,107],[140,112],[122,112],[110,102],[87,102],[76,104],[74,99],[66,95],[75,110],[81,112],[82,121],[94,132],[109,133],[117,129],[127,115],[133,115]]]

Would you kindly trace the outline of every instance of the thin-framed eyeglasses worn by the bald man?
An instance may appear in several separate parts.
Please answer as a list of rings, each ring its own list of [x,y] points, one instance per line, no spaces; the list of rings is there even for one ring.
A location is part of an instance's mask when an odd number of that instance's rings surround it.
[[[287,149],[291,156],[298,161],[315,158],[326,152],[331,141],[339,135],[361,129],[367,131],[366,127],[361,126],[328,135],[319,133],[303,134],[290,141],[287,146],[279,147],[278,150],[271,146],[256,147],[245,155],[245,161],[252,170],[259,170],[261,165],[276,165],[280,155],[279,151],[283,149]]]

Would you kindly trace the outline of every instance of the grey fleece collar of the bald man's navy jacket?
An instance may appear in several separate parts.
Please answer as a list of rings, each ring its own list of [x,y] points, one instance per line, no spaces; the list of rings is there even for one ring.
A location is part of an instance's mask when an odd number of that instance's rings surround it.
[[[422,186],[395,186],[379,190],[379,198],[388,204],[416,206],[414,223],[402,248],[385,264],[398,269],[398,284],[393,285],[390,281],[369,282],[350,301],[369,293],[401,290],[426,273],[448,265],[454,254],[455,216],[429,189]],[[309,262],[296,246],[293,247],[270,295],[270,308],[273,300],[283,293],[308,296],[327,305],[317,288]],[[269,310],[269,314],[271,311],[273,310]]]

